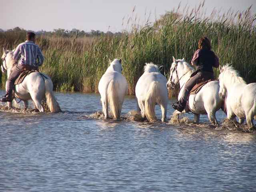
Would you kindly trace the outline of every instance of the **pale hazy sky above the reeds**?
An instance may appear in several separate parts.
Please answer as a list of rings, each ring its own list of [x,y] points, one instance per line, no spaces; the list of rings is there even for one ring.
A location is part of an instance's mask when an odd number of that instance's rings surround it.
[[[0,28],[14,27],[26,30],[46,30],[73,28],[89,32],[91,30],[118,32],[127,28],[129,17],[145,21],[151,12],[150,21],[166,11],[198,6],[201,0],[0,0]],[[252,5],[256,14],[256,0],[205,0],[204,9],[210,14],[215,8],[221,12],[232,9],[246,10]],[[132,13],[133,8],[134,12]],[[146,13],[146,16],[145,16]],[[124,18],[124,19],[123,19]],[[124,24],[122,25],[124,21]]]

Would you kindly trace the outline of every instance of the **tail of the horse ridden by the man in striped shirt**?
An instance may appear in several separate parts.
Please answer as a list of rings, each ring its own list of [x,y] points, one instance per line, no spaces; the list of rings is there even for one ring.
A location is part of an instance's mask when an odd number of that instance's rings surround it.
[[[52,113],[61,112],[60,106],[53,95],[53,84],[50,79],[44,78],[46,104]]]

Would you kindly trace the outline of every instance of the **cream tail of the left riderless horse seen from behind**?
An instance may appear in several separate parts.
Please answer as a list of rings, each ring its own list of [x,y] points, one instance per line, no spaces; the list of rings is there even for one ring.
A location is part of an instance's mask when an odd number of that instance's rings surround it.
[[[111,80],[108,85],[107,96],[108,96],[108,103],[110,105],[110,109],[114,116],[114,119],[120,118],[121,107],[119,106],[119,98],[117,90],[119,85],[114,80]]]

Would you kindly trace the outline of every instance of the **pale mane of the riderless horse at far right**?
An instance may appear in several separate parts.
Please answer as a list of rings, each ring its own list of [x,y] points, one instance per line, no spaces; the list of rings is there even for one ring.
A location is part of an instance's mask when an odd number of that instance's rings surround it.
[[[245,83],[245,80],[240,76],[239,72],[234,69],[230,64],[226,64],[222,67],[222,73],[225,73],[225,77],[230,79],[230,83]]]

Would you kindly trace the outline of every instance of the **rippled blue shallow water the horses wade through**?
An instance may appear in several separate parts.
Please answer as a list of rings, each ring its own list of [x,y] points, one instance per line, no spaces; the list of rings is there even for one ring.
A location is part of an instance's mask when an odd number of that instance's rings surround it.
[[[97,119],[98,94],[55,95],[64,113],[0,111],[0,191],[256,190],[255,133],[205,115],[198,126]],[[132,110],[126,97],[122,116]]]

